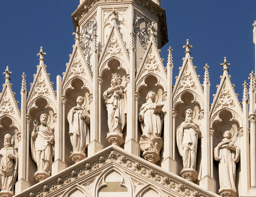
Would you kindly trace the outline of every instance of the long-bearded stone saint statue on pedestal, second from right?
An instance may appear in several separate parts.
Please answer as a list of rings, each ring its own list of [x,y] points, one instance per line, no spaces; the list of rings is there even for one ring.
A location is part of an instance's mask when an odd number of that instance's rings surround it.
[[[199,126],[193,123],[192,109],[187,109],[185,114],[185,121],[177,128],[176,140],[179,154],[183,161],[181,176],[193,182],[198,177],[198,173],[195,171],[195,164],[197,139],[201,138],[201,134]]]

